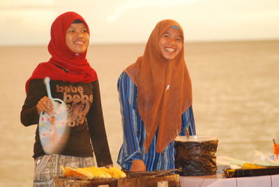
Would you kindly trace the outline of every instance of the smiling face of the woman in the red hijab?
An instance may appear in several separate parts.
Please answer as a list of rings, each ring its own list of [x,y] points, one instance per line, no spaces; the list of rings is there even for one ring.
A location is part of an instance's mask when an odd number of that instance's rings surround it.
[[[72,52],[85,52],[89,45],[89,33],[83,23],[70,24],[66,32],[66,44]]]

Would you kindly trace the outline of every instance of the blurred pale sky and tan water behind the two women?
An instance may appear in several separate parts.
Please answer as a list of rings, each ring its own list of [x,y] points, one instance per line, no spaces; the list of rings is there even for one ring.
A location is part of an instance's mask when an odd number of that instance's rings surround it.
[[[198,135],[219,140],[217,156],[253,161],[279,142],[278,0],[1,0],[0,186],[31,186],[36,126],[24,127],[24,86],[48,61],[54,19],[66,11],[91,29],[87,59],[100,82],[114,165],[122,142],[116,82],[144,52],[156,23],[181,24]]]

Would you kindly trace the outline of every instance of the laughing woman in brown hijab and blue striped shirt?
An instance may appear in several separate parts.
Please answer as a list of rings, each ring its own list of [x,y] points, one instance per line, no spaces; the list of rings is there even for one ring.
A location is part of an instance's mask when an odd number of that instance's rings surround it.
[[[156,24],[144,55],[119,77],[123,145],[117,162],[130,171],[174,168],[174,138],[195,135],[184,37],[174,20]]]

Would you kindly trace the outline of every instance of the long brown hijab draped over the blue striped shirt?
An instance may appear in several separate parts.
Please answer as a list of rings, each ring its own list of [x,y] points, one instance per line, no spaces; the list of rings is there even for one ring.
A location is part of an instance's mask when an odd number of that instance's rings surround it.
[[[158,129],[156,152],[162,152],[181,132],[181,114],[192,105],[192,87],[184,60],[184,47],[171,61],[163,58],[160,37],[169,27],[181,26],[174,20],[156,24],[146,44],[144,55],[126,68],[137,85],[137,107],[146,128],[144,146],[149,150]],[[184,38],[182,38],[184,43]]]

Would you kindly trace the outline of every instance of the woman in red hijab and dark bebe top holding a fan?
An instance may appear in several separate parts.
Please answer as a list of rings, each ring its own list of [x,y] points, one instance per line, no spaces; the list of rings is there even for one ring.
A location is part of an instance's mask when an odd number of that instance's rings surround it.
[[[86,59],[89,34],[89,27],[82,16],[73,12],[59,15],[51,27],[48,50],[52,57],[47,62],[39,63],[27,80],[22,124],[38,124],[41,112],[54,115],[54,105],[47,97],[43,82],[45,77],[50,77],[51,95],[66,103],[67,125],[70,128],[68,141],[59,154],[47,154],[40,142],[37,126],[33,149],[34,186],[52,186],[53,178],[61,176],[60,165],[93,166],[93,151],[99,167],[112,165],[98,77]]]

